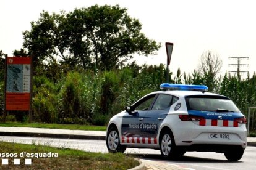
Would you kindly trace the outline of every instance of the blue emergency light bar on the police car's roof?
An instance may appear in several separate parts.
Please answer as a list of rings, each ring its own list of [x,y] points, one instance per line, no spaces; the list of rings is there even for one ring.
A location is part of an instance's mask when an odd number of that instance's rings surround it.
[[[208,87],[204,85],[188,85],[188,84],[169,84],[160,85],[161,90],[180,90],[180,91],[202,91],[207,92]]]

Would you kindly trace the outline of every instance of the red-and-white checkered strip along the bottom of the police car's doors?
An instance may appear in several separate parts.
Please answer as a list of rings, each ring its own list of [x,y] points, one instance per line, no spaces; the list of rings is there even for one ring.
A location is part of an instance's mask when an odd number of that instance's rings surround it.
[[[126,137],[126,136],[122,136],[122,143],[157,144],[157,140],[156,140],[156,138],[153,138],[153,137]]]

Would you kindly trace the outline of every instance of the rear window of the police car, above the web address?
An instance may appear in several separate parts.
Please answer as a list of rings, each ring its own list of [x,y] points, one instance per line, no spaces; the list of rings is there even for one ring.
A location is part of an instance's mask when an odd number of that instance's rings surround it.
[[[228,97],[215,95],[190,95],[186,97],[188,110],[212,112],[241,112]]]

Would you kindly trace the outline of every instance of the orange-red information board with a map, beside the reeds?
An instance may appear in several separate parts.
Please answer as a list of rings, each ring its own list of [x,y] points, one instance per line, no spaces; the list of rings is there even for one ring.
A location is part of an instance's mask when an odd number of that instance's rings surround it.
[[[6,58],[6,110],[30,110],[31,58]]]

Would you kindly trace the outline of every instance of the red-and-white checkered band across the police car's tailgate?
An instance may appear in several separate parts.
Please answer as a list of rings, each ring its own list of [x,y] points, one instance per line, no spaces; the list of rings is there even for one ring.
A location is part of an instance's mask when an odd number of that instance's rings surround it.
[[[238,127],[237,121],[216,120],[216,119],[201,119],[195,121],[199,126],[220,126],[220,127]]]

